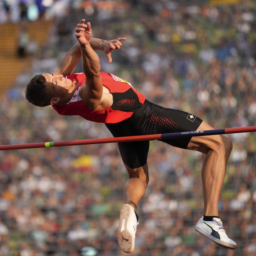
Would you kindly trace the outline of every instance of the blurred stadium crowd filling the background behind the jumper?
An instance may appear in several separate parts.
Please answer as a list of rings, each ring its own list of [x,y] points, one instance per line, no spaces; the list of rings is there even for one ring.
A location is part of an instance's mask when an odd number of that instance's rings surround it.
[[[40,1],[1,1],[8,2]],[[32,17],[53,26],[45,47],[29,53],[32,65],[0,99],[0,145],[111,137],[103,124],[59,116],[24,97],[30,78],[55,70],[76,42],[80,18],[91,22],[94,37],[127,38],[112,64],[99,52],[102,71],[128,80],[147,99],[194,113],[214,128],[254,126],[256,2],[228,2],[41,1],[44,10]],[[21,19],[8,14],[11,22]],[[22,17],[30,22],[27,13]],[[256,135],[228,136],[234,148],[219,216],[238,248],[219,247],[194,230],[203,213],[203,156],[152,141],[131,256],[256,255]],[[124,255],[116,231],[126,179],[115,143],[0,151],[0,256],[76,256],[84,246],[99,256]]]

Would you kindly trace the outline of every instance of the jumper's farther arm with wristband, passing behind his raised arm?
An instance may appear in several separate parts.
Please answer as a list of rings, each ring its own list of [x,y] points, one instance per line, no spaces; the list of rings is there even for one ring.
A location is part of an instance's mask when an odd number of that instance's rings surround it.
[[[125,37],[118,37],[117,39],[113,40],[102,40],[99,38],[92,37],[90,39],[90,45],[93,50],[102,50],[105,52],[106,57],[108,58],[109,62],[112,62],[111,54],[112,51],[115,49],[120,49],[122,44],[121,41],[126,40]],[[53,73],[56,75],[62,74],[63,76],[67,76],[71,74],[75,67],[77,66],[78,62],[81,58],[81,49],[80,43],[77,42],[63,57],[62,61],[59,64],[58,69],[56,69]]]

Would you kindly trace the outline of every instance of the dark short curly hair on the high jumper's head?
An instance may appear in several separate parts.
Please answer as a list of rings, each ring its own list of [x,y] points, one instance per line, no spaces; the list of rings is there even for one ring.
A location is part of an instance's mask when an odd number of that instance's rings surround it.
[[[42,74],[35,75],[27,84],[26,99],[35,106],[48,106],[52,95],[47,92],[46,79]]]

